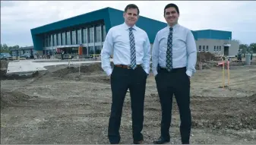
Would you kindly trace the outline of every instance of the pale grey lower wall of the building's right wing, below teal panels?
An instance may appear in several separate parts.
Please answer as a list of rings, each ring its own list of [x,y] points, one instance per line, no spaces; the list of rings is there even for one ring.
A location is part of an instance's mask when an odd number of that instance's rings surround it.
[[[213,54],[224,54],[224,44],[231,44],[229,47],[229,56],[235,56],[239,52],[239,43],[236,41],[225,40],[225,39],[198,39],[196,41],[197,50],[199,52],[199,48],[201,46],[201,52],[211,52]],[[208,51],[207,51],[208,46]],[[215,46],[215,51],[214,51]]]

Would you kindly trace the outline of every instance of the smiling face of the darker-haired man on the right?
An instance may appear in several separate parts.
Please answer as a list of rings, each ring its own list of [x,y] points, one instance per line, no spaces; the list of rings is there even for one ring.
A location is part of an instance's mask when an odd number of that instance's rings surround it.
[[[175,8],[171,7],[171,8],[166,8],[164,17],[166,19],[166,22],[169,25],[174,25],[178,23],[179,14]]]

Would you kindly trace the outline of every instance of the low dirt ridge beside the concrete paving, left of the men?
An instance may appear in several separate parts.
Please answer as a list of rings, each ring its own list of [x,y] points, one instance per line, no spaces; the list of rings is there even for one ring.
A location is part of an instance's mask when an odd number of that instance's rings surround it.
[[[103,71],[103,69],[101,68],[101,63],[96,63],[92,65],[82,65],[80,67],[81,73],[90,74],[94,71]],[[71,66],[71,67],[60,69],[58,71],[54,71],[52,72],[52,74],[54,74],[54,76],[56,77],[64,77],[67,74],[77,73],[77,72],[79,72],[79,67]]]

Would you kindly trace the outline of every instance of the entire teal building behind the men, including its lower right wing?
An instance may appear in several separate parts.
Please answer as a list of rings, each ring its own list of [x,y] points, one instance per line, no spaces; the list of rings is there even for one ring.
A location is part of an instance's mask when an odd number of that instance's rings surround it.
[[[77,54],[78,47],[82,47],[82,55],[100,55],[106,33],[111,27],[124,23],[123,12],[114,8],[103,8],[36,27],[30,30],[33,47],[40,55],[54,55],[55,52],[61,51],[65,54]],[[147,32],[151,46],[156,33],[167,26],[166,23],[142,16],[136,25]],[[236,44],[231,45],[232,41],[229,40],[232,39],[231,32],[217,30],[191,32],[196,40],[198,52],[235,55],[234,52],[238,51]]]

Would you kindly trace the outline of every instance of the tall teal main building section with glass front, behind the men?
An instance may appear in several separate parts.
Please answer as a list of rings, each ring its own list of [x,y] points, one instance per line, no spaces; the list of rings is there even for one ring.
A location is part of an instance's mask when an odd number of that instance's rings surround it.
[[[33,46],[41,55],[56,52],[77,54],[82,46],[83,55],[100,55],[106,33],[111,27],[124,23],[123,11],[103,8],[77,17],[71,17],[31,30]],[[137,27],[144,29],[153,43],[157,31],[166,24],[140,17]]]

